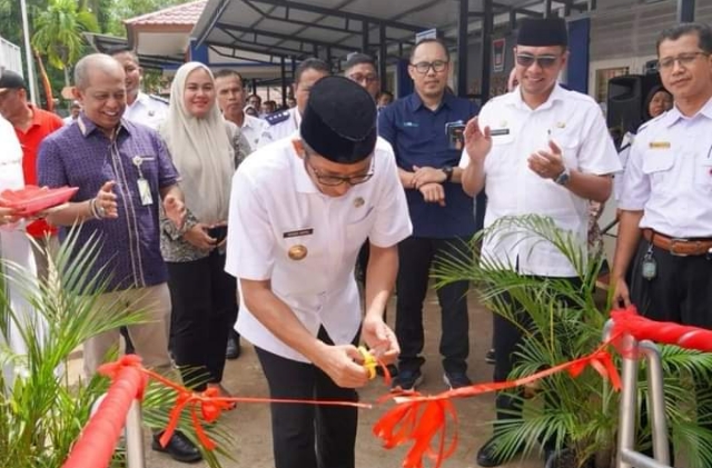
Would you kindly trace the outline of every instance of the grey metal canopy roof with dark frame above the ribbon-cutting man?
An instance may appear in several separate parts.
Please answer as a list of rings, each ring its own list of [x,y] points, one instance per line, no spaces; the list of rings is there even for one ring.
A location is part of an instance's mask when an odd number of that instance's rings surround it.
[[[468,1],[473,31],[484,3]],[[454,46],[461,7],[453,0],[209,0],[192,37],[199,44],[273,57],[338,59],[353,51],[380,50],[382,44],[392,51],[407,47],[416,32],[431,28]],[[493,7],[495,14],[535,16],[545,8],[542,0],[497,0]]]

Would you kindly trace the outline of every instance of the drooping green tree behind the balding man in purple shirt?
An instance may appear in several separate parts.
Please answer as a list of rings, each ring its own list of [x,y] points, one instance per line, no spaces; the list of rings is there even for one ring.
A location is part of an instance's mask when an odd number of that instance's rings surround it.
[[[96,17],[80,10],[76,0],[50,0],[47,9],[34,16],[33,26],[32,47],[65,72],[65,86],[69,86],[69,70],[83,52],[81,33],[99,30]]]

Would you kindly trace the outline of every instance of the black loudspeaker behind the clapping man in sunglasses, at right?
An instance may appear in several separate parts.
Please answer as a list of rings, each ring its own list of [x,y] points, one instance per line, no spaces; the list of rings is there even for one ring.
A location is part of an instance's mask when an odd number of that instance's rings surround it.
[[[660,86],[660,74],[625,74],[609,80],[606,123],[621,135],[637,131],[647,119],[645,100],[650,91]]]

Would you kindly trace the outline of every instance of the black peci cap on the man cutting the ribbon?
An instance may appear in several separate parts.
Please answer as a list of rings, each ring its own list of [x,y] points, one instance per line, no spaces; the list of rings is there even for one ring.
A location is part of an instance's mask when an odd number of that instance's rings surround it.
[[[325,77],[309,91],[299,133],[319,156],[352,165],[374,152],[376,103],[360,84],[344,77]]]

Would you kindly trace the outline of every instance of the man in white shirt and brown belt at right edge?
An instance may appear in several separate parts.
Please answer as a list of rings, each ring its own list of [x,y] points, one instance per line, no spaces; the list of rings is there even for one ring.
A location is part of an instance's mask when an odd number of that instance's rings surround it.
[[[712,30],[702,23],[666,29],[657,57],[674,107],[643,125],[631,147],[619,200],[614,299],[654,320],[712,328]],[[709,382],[701,387],[709,391]],[[708,429],[710,412],[709,405],[698,408]]]

